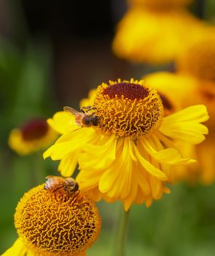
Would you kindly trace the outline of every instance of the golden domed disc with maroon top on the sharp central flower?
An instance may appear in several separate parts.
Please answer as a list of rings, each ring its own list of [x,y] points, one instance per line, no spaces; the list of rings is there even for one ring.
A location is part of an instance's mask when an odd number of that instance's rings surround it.
[[[144,81],[110,81],[95,93],[98,127],[106,134],[130,138],[148,135],[160,126],[163,105],[155,89]]]

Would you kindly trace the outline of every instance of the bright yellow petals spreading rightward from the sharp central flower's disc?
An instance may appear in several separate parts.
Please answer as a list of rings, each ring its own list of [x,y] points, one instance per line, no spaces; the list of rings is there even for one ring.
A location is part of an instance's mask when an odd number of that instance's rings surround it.
[[[208,134],[208,128],[200,122],[208,120],[204,105],[195,105],[163,118],[160,132],[173,139],[198,144]]]

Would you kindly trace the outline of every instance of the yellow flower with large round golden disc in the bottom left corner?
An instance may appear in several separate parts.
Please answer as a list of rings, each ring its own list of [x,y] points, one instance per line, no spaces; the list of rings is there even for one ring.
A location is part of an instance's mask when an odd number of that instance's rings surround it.
[[[28,191],[15,212],[19,238],[4,256],[85,256],[98,238],[98,208],[84,192],[69,195],[44,184]]]

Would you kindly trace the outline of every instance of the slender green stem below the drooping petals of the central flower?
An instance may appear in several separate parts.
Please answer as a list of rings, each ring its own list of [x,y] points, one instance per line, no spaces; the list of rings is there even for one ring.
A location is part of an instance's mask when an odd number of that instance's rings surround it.
[[[120,214],[120,228],[117,237],[117,246],[114,255],[125,256],[125,238],[128,227],[128,216],[130,211],[124,211]]]

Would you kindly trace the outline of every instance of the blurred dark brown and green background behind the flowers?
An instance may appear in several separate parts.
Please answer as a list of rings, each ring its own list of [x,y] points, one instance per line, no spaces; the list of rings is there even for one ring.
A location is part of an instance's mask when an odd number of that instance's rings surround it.
[[[42,151],[20,157],[9,132],[32,117],[51,117],[63,106],[79,108],[87,92],[108,80],[140,79],[170,64],[135,64],[112,52],[125,0],[0,0],[0,253],[17,238],[13,214],[23,193],[58,175],[58,162]],[[215,22],[215,1],[195,1],[190,12]],[[127,255],[215,255],[215,185],[172,186],[171,195],[130,213]],[[114,255],[120,203],[98,203],[101,236],[89,256]]]

